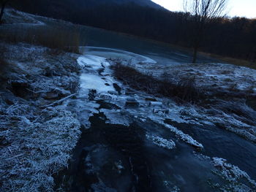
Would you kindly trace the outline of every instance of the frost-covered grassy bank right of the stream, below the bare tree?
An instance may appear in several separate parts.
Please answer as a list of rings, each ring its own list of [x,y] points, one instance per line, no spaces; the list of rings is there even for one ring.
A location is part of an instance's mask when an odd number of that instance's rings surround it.
[[[253,106],[246,104],[246,98],[256,98],[255,70],[229,64],[180,64],[170,66],[170,69],[159,64],[120,62],[123,65],[115,67],[114,74],[130,87],[155,96],[165,91],[162,95],[171,99],[176,96],[185,98],[185,101],[191,98],[196,101],[196,105],[170,106],[170,109],[175,109],[172,115],[166,117],[179,123],[214,124],[252,142],[256,141],[256,112]],[[161,91],[159,84],[162,84]],[[203,96],[197,93],[203,93]],[[174,118],[176,116],[183,120]],[[152,115],[150,117],[154,118]]]

